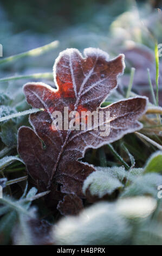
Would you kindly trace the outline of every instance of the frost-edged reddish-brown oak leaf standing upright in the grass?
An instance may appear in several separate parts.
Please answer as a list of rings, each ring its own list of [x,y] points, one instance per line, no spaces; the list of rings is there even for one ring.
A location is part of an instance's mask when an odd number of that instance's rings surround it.
[[[87,48],[84,55],[73,48],[60,53],[54,64],[57,89],[44,83],[27,83],[23,88],[28,103],[44,111],[30,114],[34,130],[23,126],[18,131],[18,153],[38,189],[51,190],[48,202],[63,215],[76,214],[82,208],[83,181],[95,171],[92,164],[79,161],[86,149],[99,148],[141,129],[137,120],[147,105],[146,97],[139,96],[101,108],[124,71],[124,55],[108,60],[108,54],[98,48]],[[109,135],[100,136],[100,126],[94,130],[94,122],[91,129],[54,131],[52,113],[63,113],[64,107],[78,113],[98,109],[104,116],[109,111]]]

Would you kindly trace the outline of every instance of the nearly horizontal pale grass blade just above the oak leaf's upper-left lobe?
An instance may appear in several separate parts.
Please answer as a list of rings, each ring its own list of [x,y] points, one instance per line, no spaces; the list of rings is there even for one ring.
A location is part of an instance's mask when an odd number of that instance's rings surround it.
[[[12,80],[20,80],[20,79],[28,79],[28,78],[52,78],[53,79],[53,73],[52,72],[45,72],[45,73],[35,73],[31,75],[24,75],[24,76],[10,76],[10,77],[4,77],[0,79],[0,83],[2,82],[9,82]]]

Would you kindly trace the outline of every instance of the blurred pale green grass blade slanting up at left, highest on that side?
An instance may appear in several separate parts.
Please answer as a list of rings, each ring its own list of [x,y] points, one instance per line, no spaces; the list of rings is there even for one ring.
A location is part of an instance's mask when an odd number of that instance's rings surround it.
[[[35,48],[33,50],[27,51],[27,52],[22,52],[4,59],[0,60],[0,64],[12,62],[14,60],[23,58],[23,57],[33,57],[33,56],[40,56],[41,54],[48,52],[54,48],[56,48],[59,45],[59,41],[53,41],[50,42],[50,44]]]

